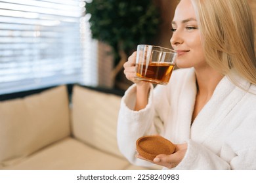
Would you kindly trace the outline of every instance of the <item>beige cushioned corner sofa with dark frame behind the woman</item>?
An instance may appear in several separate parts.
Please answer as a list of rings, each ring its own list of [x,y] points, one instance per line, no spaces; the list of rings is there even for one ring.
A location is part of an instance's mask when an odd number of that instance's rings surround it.
[[[0,101],[0,169],[158,169],[131,165],[119,152],[120,100],[74,84]]]

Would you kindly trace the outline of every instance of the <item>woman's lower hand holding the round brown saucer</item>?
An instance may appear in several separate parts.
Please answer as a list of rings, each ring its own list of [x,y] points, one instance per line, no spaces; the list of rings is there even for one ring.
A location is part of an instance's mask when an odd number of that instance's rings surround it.
[[[175,152],[170,155],[160,154],[156,156],[156,158],[151,161],[143,158],[139,154],[136,155],[137,158],[144,159],[146,161],[150,161],[156,165],[161,165],[163,167],[167,167],[168,169],[172,169],[176,167],[181,160],[184,158],[186,154],[186,149],[188,148],[188,144],[175,144]]]

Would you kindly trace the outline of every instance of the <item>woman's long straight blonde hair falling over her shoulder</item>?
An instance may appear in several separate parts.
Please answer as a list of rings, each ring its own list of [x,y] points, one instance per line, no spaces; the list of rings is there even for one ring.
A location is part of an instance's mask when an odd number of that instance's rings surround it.
[[[233,73],[256,84],[253,15],[247,0],[191,1],[207,63],[238,86]]]

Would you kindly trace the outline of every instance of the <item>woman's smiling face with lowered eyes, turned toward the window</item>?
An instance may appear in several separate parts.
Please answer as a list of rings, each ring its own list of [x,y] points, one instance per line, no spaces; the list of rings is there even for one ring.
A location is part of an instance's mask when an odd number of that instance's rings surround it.
[[[178,52],[177,66],[179,68],[204,67],[206,62],[200,31],[190,0],[182,0],[179,3],[175,10],[172,27],[171,45]]]

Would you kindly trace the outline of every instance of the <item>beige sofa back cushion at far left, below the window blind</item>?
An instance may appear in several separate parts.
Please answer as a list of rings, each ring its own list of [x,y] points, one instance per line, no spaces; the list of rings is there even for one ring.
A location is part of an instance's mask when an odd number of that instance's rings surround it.
[[[70,135],[65,86],[0,102],[0,169]]]

